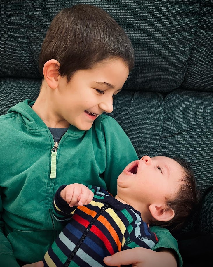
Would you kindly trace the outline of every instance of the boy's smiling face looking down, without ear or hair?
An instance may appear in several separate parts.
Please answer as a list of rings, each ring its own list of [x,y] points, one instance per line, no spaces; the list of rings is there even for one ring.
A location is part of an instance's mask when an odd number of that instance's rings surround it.
[[[89,130],[103,112],[113,110],[113,96],[121,91],[129,69],[121,59],[107,59],[89,70],[78,70],[67,84],[58,76],[54,92],[55,116],[80,130]]]

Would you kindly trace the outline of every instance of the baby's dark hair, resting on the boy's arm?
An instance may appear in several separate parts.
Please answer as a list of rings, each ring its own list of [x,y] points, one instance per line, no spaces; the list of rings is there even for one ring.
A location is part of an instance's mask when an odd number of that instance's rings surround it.
[[[166,197],[167,205],[165,209],[174,210],[174,218],[167,222],[153,220],[151,224],[168,227],[171,231],[183,226],[192,210],[199,202],[199,192],[196,189],[196,180],[189,164],[182,159],[173,158],[183,168],[183,176],[180,179],[179,191],[173,198]]]

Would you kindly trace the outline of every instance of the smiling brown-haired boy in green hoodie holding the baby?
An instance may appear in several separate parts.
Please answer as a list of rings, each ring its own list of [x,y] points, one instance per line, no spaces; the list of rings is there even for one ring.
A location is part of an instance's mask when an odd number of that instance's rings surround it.
[[[102,9],[77,5],[53,19],[41,47],[38,98],[0,117],[1,267],[43,258],[63,228],[51,211],[60,185],[95,184],[116,195],[118,175],[138,156],[120,125],[102,113],[112,111],[133,64],[128,36]],[[168,253],[153,255],[177,266],[172,251],[181,266],[177,241],[169,232],[164,238]],[[155,250],[165,247],[161,240]]]

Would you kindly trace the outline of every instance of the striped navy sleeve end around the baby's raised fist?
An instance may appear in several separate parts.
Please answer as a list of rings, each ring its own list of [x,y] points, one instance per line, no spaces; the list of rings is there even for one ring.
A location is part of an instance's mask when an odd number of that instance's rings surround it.
[[[57,221],[68,221],[72,218],[76,206],[70,207],[69,204],[60,197],[60,192],[67,185],[62,185],[55,193],[53,200],[53,215]]]

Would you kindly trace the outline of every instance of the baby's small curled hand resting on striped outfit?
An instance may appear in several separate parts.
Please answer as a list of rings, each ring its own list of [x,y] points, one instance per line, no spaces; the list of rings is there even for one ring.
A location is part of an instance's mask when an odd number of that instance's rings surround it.
[[[60,197],[62,197],[70,207],[73,207],[87,205],[92,201],[94,194],[85,185],[71,184],[61,190]]]

